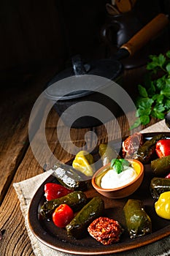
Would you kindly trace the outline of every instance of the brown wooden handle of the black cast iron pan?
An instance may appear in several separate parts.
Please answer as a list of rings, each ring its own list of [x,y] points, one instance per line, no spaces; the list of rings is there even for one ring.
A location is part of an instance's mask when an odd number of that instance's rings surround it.
[[[126,50],[128,50],[130,55],[133,56],[134,53],[136,53],[140,48],[142,48],[144,45],[147,45],[147,42],[149,42],[156,35],[158,35],[158,33],[163,28],[165,28],[168,23],[169,18],[163,13],[160,13],[120,48],[125,48]]]

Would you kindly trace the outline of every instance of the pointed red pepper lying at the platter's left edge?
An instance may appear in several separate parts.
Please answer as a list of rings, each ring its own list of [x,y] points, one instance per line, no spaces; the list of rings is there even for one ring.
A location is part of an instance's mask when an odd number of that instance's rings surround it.
[[[64,195],[68,195],[72,190],[66,187],[63,187],[60,184],[55,183],[47,183],[45,184],[45,197],[47,201],[57,199],[59,197],[63,197]]]

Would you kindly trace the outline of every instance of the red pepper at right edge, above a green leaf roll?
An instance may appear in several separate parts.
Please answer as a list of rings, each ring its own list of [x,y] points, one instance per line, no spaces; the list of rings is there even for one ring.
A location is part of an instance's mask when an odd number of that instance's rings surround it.
[[[170,155],[170,139],[158,140],[155,148],[156,154],[159,158]]]

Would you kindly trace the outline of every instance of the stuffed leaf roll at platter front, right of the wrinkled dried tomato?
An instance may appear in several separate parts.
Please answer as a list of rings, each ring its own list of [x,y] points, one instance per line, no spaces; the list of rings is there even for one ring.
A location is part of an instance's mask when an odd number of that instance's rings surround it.
[[[131,238],[144,236],[152,232],[151,219],[146,211],[144,211],[144,205],[141,200],[129,199],[123,211],[128,233]]]

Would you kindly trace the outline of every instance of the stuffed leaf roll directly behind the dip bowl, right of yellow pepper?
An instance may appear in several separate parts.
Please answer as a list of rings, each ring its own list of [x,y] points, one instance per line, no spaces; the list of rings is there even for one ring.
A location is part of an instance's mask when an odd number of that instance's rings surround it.
[[[101,157],[103,165],[109,164],[113,158],[120,158],[114,148],[104,143],[100,144],[98,153]]]

